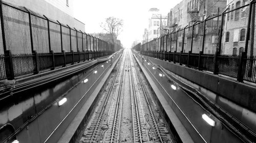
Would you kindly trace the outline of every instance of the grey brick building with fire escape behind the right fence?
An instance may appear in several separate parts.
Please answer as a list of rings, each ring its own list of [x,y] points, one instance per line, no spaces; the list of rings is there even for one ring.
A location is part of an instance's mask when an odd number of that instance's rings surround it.
[[[182,49],[182,37],[184,33],[184,49],[183,52],[188,52],[191,45],[191,31],[192,28],[186,28],[185,31],[177,30],[184,28],[185,26],[192,26],[195,22],[201,22],[206,17],[221,14],[226,8],[226,0],[212,1],[212,0],[183,0],[174,8],[172,8],[168,14],[169,31],[174,32],[172,37],[171,51],[180,52]],[[215,53],[218,47],[218,30],[220,29],[220,18],[214,18],[206,22],[205,30],[205,42],[204,53]],[[178,41],[176,44],[176,34],[178,34]],[[203,23],[197,24],[194,27],[193,38],[193,51],[198,53],[202,50],[203,40]]]

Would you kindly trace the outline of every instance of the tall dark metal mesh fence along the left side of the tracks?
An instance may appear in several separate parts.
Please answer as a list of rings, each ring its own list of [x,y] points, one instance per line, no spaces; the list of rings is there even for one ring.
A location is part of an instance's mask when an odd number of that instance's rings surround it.
[[[110,55],[114,45],[0,1],[0,80]]]

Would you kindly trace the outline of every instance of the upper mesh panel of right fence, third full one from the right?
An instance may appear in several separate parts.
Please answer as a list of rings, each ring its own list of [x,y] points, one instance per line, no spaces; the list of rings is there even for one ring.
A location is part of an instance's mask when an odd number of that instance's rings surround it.
[[[203,40],[203,22],[197,23],[194,25],[194,36],[193,36],[193,53],[199,53],[202,49],[202,40]]]

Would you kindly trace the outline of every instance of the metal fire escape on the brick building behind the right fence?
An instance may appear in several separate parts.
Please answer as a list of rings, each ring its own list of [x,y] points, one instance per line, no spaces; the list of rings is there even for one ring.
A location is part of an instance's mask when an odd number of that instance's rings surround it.
[[[193,9],[192,8],[188,9],[188,13],[191,16],[191,22],[192,23],[194,23],[197,20],[199,20],[199,10],[200,10],[201,5],[203,3],[203,0],[195,0],[195,1],[196,1],[196,3],[195,3],[194,8]],[[194,35],[197,35],[199,33],[200,26],[201,26],[201,24],[195,25],[195,27],[194,27]]]

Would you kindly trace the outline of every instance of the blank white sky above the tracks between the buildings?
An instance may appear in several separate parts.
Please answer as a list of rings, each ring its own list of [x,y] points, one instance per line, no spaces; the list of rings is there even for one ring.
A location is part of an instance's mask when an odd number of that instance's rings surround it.
[[[74,0],[74,17],[86,25],[86,33],[103,32],[100,23],[114,16],[123,19],[123,31],[118,36],[124,47],[142,40],[144,28],[148,28],[147,14],[150,8],[158,8],[167,15],[182,0]]]

